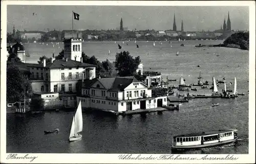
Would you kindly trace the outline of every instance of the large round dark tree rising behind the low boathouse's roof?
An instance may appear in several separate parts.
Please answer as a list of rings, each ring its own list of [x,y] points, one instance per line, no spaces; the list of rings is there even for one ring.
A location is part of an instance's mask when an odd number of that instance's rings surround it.
[[[128,51],[117,53],[115,67],[118,71],[118,75],[121,77],[134,76],[140,62],[141,60],[139,56],[133,59],[133,56],[131,56]]]

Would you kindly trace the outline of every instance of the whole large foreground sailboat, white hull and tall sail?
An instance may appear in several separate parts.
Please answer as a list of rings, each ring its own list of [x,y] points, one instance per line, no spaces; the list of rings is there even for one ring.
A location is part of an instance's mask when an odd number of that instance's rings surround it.
[[[69,141],[75,141],[82,138],[82,135],[79,132],[82,131],[82,108],[81,101],[78,104],[75,115],[73,116],[73,121],[71,125]]]

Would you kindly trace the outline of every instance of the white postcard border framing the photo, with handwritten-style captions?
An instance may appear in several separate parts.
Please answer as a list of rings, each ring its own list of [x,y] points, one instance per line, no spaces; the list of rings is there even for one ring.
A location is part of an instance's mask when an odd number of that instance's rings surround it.
[[[27,163],[28,159],[6,159],[6,32],[7,5],[98,5],[98,6],[249,6],[249,154],[234,154],[238,160],[119,160],[120,154],[29,154],[31,163],[255,163],[255,2],[254,1],[1,1],[1,162]],[[146,5],[145,5],[146,4]],[[18,154],[25,156],[26,154]],[[161,154],[142,154],[143,157]],[[201,158],[206,154],[182,154]],[[232,154],[230,154],[231,156]],[[133,157],[137,155],[133,154]],[[177,156],[177,155],[175,155]],[[226,157],[209,154],[208,157]]]

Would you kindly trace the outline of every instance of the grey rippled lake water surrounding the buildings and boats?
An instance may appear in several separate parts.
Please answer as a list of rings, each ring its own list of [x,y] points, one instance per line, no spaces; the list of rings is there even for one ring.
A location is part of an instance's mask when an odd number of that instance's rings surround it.
[[[218,44],[223,41],[194,40],[156,42],[137,41],[129,45],[121,44],[122,51],[140,56],[143,71],[161,72],[163,78],[177,79],[178,85],[183,76],[186,83],[197,83],[201,71],[203,81],[211,82],[211,77],[226,78],[227,89],[236,76],[238,93],[245,96],[236,99],[192,99],[183,103],[179,111],[164,111],[162,114],[110,116],[102,113],[83,113],[82,139],[69,143],[69,131],[73,112],[46,112],[44,115],[24,116],[7,114],[7,152],[19,153],[172,153],[172,136],[218,129],[238,129],[239,140],[236,145],[227,145],[204,150],[191,150],[183,153],[247,154],[248,153],[248,73],[249,51],[231,48],[195,48],[197,44]],[[184,43],[185,46],[180,46]],[[51,43],[24,44],[31,57],[28,62],[35,63],[40,56],[52,57],[63,47],[53,47]],[[60,48],[58,48],[60,46]],[[83,43],[82,50],[88,56],[95,55],[100,61],[115,60],[116,44],[111,41]],[[108,55],[109,50],[111,54]],[[120,52],[120,50],[118,50]],[[179,56],[175,54],[179,51]],[[219,55],[219,56],[217,56]],[[200,67],[197,67],[200,65]],[[190,94],[210,95],[210,89],[189,91]],[[223,89],[219,84],[219,89]],[[176,95],[177,90],[175,90]],[[180,92],[181,95],[187,92]],[[219,106],[212,107],[214,102]],[[44,130],[59,128],[54,134],[44,134]]]

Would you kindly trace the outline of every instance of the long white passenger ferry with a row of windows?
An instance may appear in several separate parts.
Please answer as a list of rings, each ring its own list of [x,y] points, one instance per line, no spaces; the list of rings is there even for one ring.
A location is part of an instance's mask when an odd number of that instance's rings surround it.
[[[202,149],[236,142],[237,130],[218,130],[173,137],[172,149]]]

